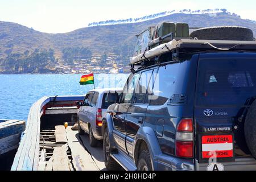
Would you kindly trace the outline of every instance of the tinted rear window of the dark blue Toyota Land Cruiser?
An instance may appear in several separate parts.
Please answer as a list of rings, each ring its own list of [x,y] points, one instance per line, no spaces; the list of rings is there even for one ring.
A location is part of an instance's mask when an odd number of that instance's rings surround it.
[[[256,94],[256,59],[203,59],[197,70],[197,105],[245,105]]]

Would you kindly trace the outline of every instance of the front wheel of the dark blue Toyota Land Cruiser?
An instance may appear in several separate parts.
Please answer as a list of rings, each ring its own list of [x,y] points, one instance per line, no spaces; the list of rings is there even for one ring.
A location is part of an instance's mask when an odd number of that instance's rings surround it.
[[[117,171],[121,169],[121,166],[110,156],[108,129],[106,129],[104,138],[103,138],[103,152],[104,152],[105,166],[109,171]]]

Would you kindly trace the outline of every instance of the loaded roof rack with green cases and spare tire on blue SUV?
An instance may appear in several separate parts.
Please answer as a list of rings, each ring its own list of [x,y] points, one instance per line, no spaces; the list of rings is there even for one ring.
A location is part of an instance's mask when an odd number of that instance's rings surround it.
[[[151,34],[147,34],[147,41],[144,41],[143,46],[141,46],[143,49],[137,51],[134,57],[130,58],[131,68],[134,65],[143,65],[144,67],[148,64],[158,64],[161,55],[175,51],[175,56],[179,56],[180,50],[183,53],[201,51],[256,52],[256,42],[253,38],[253,32],[249,28],[221,26],[192,29],[193,31],[189,35],[187,23],[162,22],[155,28],[151,27],[148,31]],[[148,41],[149,35],[151,41]],[[137,48],[135,48],[136,50]]]

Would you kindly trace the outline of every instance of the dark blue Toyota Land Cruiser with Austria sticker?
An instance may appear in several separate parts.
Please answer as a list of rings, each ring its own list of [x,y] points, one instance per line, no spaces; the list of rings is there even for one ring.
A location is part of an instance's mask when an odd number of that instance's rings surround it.
[[[159,49],[108,97],[106,168],[256,170],[256,42],[174,39]]]

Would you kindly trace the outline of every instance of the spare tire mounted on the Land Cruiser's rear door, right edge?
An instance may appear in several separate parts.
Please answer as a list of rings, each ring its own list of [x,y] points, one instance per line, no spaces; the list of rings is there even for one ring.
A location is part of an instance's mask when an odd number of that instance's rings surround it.
[[[251,104],[245,118],[245,140],[251,155],[256,159],[256,100]]]

